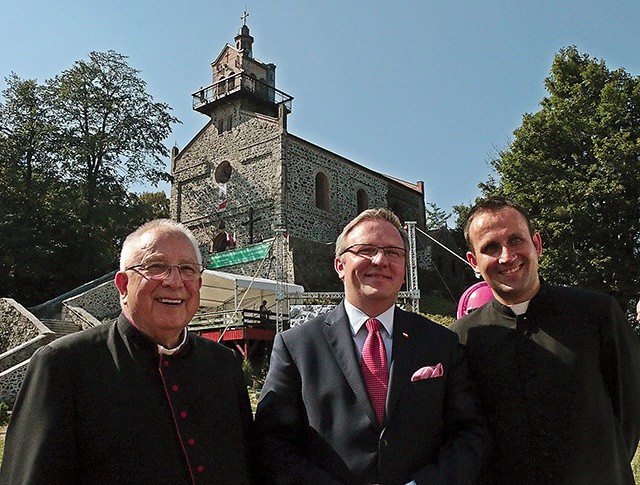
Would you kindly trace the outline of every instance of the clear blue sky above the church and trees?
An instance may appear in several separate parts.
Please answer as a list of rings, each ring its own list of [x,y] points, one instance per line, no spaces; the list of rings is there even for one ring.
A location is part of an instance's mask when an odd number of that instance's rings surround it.
[[[488,161],[539,109],[562,47],[640,74],[640,0],[0,0],[0,77],[43,82],[113,49],[183,122],[167,140],[182,148],[207,121],[190,93],[210,83],[245,8],[254,57],[295,98],[289,131],[424,181],[447,212],[479,195]]]

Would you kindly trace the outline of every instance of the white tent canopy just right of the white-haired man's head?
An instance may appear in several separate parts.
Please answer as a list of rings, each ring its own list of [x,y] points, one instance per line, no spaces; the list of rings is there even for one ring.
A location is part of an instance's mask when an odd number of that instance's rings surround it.
[[[218,310],[258,310],[262,300],[267,300],[267,306],[272,308],[275,305],[276,285],[275,280],[206,269],[202,273],[200,306]],[[300,285],[282,285],[285,293],[304,292]]]

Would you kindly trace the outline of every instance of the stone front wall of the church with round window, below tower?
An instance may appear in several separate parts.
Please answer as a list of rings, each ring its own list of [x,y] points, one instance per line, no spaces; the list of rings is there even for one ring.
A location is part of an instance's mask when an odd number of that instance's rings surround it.
[[[248,242],[249,208],[259,221],[253,240],[272,238],[280,224],[275,207],[280,198],[280,128],[277,120],[240,112],[238,126],[218,134],[208,124],[174,160],[171,215],[189,226],[208,245],[220,223]],[[227,182],[216,180],[216,170],[227,162]],[[224,180],[224,179],[222,179]],[[227,201],[226,210],[217,211]]]

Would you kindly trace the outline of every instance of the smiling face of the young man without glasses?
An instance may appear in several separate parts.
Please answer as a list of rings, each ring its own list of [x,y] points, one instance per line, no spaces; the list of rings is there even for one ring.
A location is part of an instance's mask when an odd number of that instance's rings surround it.
[[[469,226],[473,251],[467,260],[491,286],[495,298],[514,305],[530,300],[540,289],[540,234],[533,236],[520,212],[512,207],[485,210]]]

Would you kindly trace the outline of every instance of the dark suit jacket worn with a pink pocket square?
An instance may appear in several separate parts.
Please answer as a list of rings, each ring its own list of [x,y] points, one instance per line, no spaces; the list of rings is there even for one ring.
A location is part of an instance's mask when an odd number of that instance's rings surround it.
[[[443,377],[411,381],[438,363]],[[277,335],[256,426],[261,478],[275,483],[470,484],[489,448],[457,336],[400,309],[381,427],[343,303]]]

